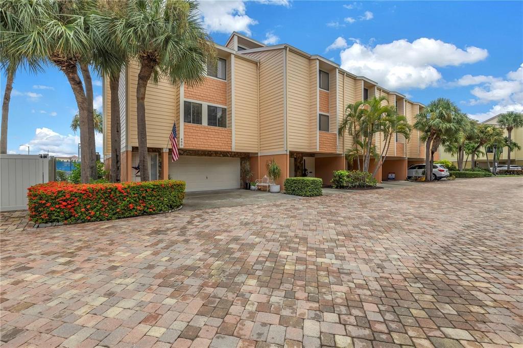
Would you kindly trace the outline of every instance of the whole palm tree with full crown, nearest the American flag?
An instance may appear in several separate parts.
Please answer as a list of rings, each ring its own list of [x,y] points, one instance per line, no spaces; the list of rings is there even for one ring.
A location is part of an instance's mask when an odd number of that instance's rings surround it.
[[[192,0],[129,0],[126,15],[102,27],[130,56],[140,71],[137,85],[137,126],[140,175],[149,180],[145,93],[152,78],[173,85],[197,85],[206,77],[209,57],[215,49],[202,27],[198,4]]]

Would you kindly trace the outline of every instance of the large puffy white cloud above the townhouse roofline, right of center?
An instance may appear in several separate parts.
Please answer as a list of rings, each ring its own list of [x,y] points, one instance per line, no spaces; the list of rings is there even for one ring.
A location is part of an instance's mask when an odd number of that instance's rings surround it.
[[[487,55],[481,48],[463,50],[429,38],[395,40],[374,47],[355,42],[340,53],[342,68],[390,89],[426,88],[441,78],[437,67],[475,63]]]

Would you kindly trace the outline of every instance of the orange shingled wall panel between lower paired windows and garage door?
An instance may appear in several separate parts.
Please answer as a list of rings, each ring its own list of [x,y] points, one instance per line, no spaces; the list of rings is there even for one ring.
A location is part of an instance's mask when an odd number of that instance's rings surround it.
[[[184,148],[232,151],[232,130],[184,123]]]

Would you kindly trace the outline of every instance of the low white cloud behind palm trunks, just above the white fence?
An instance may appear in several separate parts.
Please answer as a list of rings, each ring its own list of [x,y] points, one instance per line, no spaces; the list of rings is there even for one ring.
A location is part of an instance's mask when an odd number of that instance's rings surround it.
[[[95,133],[95,143],[97,147],[102,146],[103,136]],[[31,154],[47,154],[52,156],[72,156],[78,153],[79,135],[56,133],[52,129],[42,127],[37,128],[35,136],[25,145],[29,145]],[[20,145],[19,153],[26,153],[27,147]]]

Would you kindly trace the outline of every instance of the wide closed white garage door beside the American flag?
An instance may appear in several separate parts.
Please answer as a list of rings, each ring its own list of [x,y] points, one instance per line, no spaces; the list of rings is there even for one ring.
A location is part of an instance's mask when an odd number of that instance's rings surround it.
[[[240,158],[180,156],[169,160],[169,175],[184,180],[186,191],[225,190],[240,188]]]

